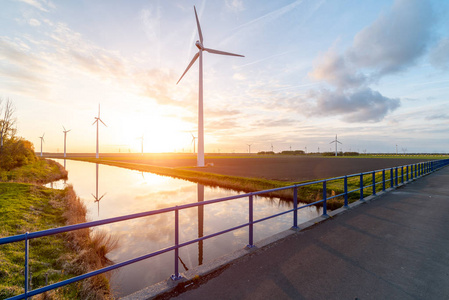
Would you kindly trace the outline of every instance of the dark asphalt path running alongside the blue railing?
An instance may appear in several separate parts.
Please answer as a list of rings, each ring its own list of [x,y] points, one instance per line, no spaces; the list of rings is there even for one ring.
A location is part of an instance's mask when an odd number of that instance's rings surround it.
[[[175,299],[449,299],[449,168],[192,287]]]

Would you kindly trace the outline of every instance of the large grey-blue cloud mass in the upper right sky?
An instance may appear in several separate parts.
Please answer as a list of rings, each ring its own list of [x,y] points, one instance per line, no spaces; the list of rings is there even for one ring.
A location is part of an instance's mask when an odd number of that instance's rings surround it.
[[[312,113],[341,115],[346,122],[382,121],[400,106],[400,100],[383,96],[369,85],[415,65],[433,40],[432,22],[428,3],[398,0],[388,13],[357,33],[342,54],[328,50],[309,76],[332,88],[311,92]],[[439,54],[443,51],[435,53],[435,62],[443,60]]]

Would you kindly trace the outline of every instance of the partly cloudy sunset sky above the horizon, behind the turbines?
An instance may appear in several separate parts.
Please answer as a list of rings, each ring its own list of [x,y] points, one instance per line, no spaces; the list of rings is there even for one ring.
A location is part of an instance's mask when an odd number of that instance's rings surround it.
[[[0,99],[40,151],[449,152],[449,2],[1,0]]]

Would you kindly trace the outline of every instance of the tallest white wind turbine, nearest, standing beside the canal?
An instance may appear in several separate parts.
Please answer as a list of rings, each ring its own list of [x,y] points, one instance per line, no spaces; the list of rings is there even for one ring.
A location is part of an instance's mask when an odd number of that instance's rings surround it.
[[[187,73],[187,71],[190,69],[190,67],[195,63],[195,61],[200,58],[199,60],[199,90],[198,90],[198,155],[197,155],[197,166],[198,167],[204,167],[204,124],[203,124],[203,51],[213,53],[213,54],[220,54],[220,55],[229,55],[229,56],[240,56],[244,57],[240,54],[234,54],[219,50],[214,50],[210,48],[205,48],[203,45],[203,33],[201,32],[201,26],[200,21],[198,20],[198,14],[196,13],[196,8],[193,6],[193,10],[195,11],[195,18],[196,18],[196,25],[198,27],[198,36],[200,38],[199,41],[196,41],[195,46],[198,48],[198,52],[193,56],[192,60],[190,61],[190,64],[187,66],[184,73],[181,75],[181,78],[179,78],[178,84],[182,77]]]

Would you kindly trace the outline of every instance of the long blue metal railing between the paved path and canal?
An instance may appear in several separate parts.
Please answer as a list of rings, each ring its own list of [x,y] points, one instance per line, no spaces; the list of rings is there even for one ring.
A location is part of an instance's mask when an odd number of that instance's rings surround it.
[[[214,199],[214,200],[208,200],[208,201],[203,201],[203,202],[196,202],[196,203],[190,203],[190,204],[185,204],[185,205],[180,205],[180,206],[175,206],[175,207],[169,207],[169,208],[164,208],[164,209],[159,209],[159,210],[153,210],[153,211],[147,211],[147,212],[142,212],[142,213],[136,213],[136,214],[131,214],[131,215],[126,215],[126,216],[121,216],[121,217],[115,217],[115,218],[109,218],[109,219],[104,219],[104,220],[99,220],[99,221],[93,221],[93,222],[87,222],[87,223],[81,223],[81,224],[76,224],[76,225],[69,225],[69,226],[64,226],[64,227],[59,227],[59,228],[54,228],[54,229],[48,229],[48,230],[43,230],[43,231],[37,231],[37,232],[31,232],[31,233],[25,233],[25,234],[20,234],[20,235],[15,235],[15,236],[11,236],[11,237],[5,237],[5,238],[0,238],[0,245],[2,244],[8,244],[8,243],[14,243],[14,242],[21,242],[24,241],[25,242],[25,266],[24,266],[24,274],[25,274],[25,279],[24,279],[24,293],[8,298],[8,299],[26,299],[27,297],[31,297],[34,295],[38,295],[41,293],[44,293],[46,291],[50,291],[62,286],[65,286],[67,284],[71,284],[92,276],[96,276],[105,272],[109,272],[151,257],[155,257],[158,256],[160,254],[169,252],[169,251],[174,251],[174,274],[171,276],[171,278],[173,280],[177,280],[180,279],[181,276],[179,274],[179,266],[178,266],[178,252],[179,249],[185,246],[188,246],[190,244],[193,243],[197,243],[199,241],[203,241],[236,229],[240,229],[243,227],[247,227],[248,226],[248,248],[252,248],[254,247],[254,224],[266,221],[268,219],[272,219],[287,213],[293,213],[293,222],[292,222],[292,229],[298,229],[298,210],[303,209],[305,207],[309,207],[312,205],[322,205],[323,206],[323,216],[327,216],[327,203],[329,200],[333,199],[333,198],[343,198],[344,199],[344,203],[343,203],[343,207],[348,208],[349,207],[349,195],[351,193],[359,193],[359,200],[364,201],[365,200],[365,190],[371,189],[371,195],[376,195],[377,192],[379,191],[385,191],[388,188],[394,188],[400,184],[404,184],[406,182],[412,181],[418,177],[427,175],[431,172],[434,172],[440,168],[443,168],[445,166],[447,166],[449,164],[449,159],[444,159],[444,160],[434,160],[434,161],[428,161],[428,162],[422,162],[422,163],[416,163],[416,164],[411,164],[411,165],[404,165],[404,166],[399,166],[399,167],[393,167],[393,168],[387,168],[387,169],[382,169],[382,170],[375,170],[375,171],[371,171],[371,172],[363,172],[363,173],[358,173],[358,174],[352,174],[352,175],[345,175],[345,176],[340,176],[340,177],[334,177],[334,178],[329,178],[329,179],[323,179],[323,180],[318,180],[318,181],[313,181],[313,182],[306,182],[306,183],[301,183],[301,184],[295,184],[295,185],[291,185],[291,186],[287,186],[287,187],[281,187],[281,188],[275,188],[275,189],[270,189],[270,190],[263,190],[263,191],[259,191],[259,192],[253,192],[253,193],[247,193],[247,194],[241,194],[241,195],[236,195],[236,196],[230,196],[230,197],[225,197],[225,198],[219,198],[219,199]],[[387,178],[388,175],[388,178]],[[334,181],[343,181],[343,193],[340,193],[338,195],[331,195],[329,196],[329,189],[328,189],[328,183],[332,183]],[[357,184],[357,181],[359,181],[358,187],[356,189],[353,190],[348,190],[349,187],[351,186],[351,184],[349,184],[349,181],[353,181],[352,182],[352,186],[355,184]],[[310,186],[310,185],[322,185],[322,199],[319,201],[315,201],[313,203],[309,203],[309,204],[305,204],[302,206],[298,207],[298,189],[301,187],[305,187],[305,186]],[[283,211],[281,213],[277,213],[268,217],[264,217],[261,219],[257,219],[254,220],[253,218],[253,213],[254,213],[254,209],[253,209],[253,200],[254,197],[257,195],[266,195],[269,193],[273,193],[273,192],[277,192],[277,191],[281,191],[281,190],[288,190],[288,189],[293,189],[293,208]],[[198,207],[200,205],[204,206],[204,205],[211,205],[214,203],[218,203],[218,202],[223,202],[223,201],[230,201],[230,200],[234,200],[234,199],[240,199],[240,198],[245,198],[248,197],[248,222],[240,224],[238,226],[226,229],[226,230],[222,230],[219,232],[215,232],[213,234],[210,235],[206,235],[197,239],[193,239],[184,243],[179,243],[179,211],[180,210],[184,210],[184,209],[188,209],[188,208],[192,208],[192,207]],[[175,243],[173,246],[171,247],[167,247],[164,249],[160,249],[158,251],[152,252],[152,253],[148,253],[146,255],[143,256],[139,256],[121,263],[117,263],[102,269],[98,269],[96,271],[93,272],[89,272],[83,275],[79,275],[76,277],[72,277],[70,279],[66,279],[57,283],[53,283],[44,287],[40,287],[34,290],[29,290],[29,242],[31,239],[35,239],[35,238],[39,238],[39,237],[44,237],[44,236],[50,236],[50,235],[55,235],[55,234],[59,234],[59,233],[64,233],[64,232],[69,232],[69,231],[73,231],[73,230],[79,230],[79,229],[84,229],[84,228],[90,228],[90,227],[96,227],[96,226],[100,226],[100,225],[105,225],[105,224],[110,224],[110,223],[116,223],[116,222],[121,222],[121,221],[126,221],[126,220],[131,220],[131,219],[137,219],[137,218],[142,218],[142,217],[148,217],[148,216],[152,216],[152,215],[158,215],[158,214],[163,214],[163,213],[169,213],[169,212],[174,212],[175,213]]]

